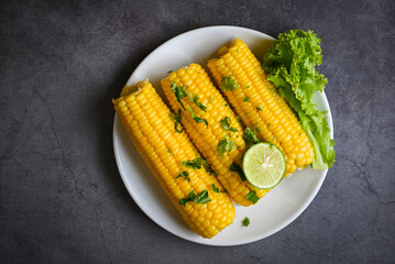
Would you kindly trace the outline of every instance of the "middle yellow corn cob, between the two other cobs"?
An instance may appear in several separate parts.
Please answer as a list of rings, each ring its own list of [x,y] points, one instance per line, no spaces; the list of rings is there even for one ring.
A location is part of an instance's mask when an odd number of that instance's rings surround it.
[[[172,82],[175,82],[175,86],[186,87],[186,92],[189,95],[196,95],[198,102],[207,107],[206,111],[199,108],[198,105],[188,97],[182,99],[184,110],[171,88]],[[211,165],[211,168],[218,174],[218,179],[228,190],[229,196],[242,206],[253,205],[245,198],[250,191],[254,190],[255,195],[262,198],[268,190],[254,188],[248,180],[242,180],[239,173],[230,169],[232,163],[239,166],[241,165],[241,158],[245,152],[244,132],[237,121],[234,112],[223,99],[220,91],[212,85],[205,69],[198,64],[190,64],[189,67],[184,67],[169,74],[167,78],[162,79],[161,84],[173,111],[178,112],[183,110],[182,123],[185,130],[196,147]],[[197,123],[193,119],[193,113],[189,108],[193,109],[198,117],[205,119],[207,125],[205,122]],[[227,117],[230,118],[231,121],[230,128],[234,128],[238,131],[224,131],[221,128],[220,120]],[[221,155],[217,151],[217,146],[223,139],[232,140],[234,147],[229,153]]]

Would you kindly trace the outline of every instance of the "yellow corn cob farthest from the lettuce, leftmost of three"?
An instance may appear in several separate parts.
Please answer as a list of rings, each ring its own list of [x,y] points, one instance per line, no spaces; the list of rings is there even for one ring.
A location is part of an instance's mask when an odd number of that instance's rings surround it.
[[[204,168],[180,165],[199,156],[186,133],[175,132],[171,111],[152,85],[145,80],[125,87],[113,105],[140,154],[190,229],[204,238],[212,238],[229,226],[235,216],[231,199],[213,191],[212,185],[219,189],[222,186]],[[183,175],[177,178],[183,172],[188,173],[189,182]],[[195,195],[207,190],[211,201],[180,205],[179,200],[188,198],[191,190]]]

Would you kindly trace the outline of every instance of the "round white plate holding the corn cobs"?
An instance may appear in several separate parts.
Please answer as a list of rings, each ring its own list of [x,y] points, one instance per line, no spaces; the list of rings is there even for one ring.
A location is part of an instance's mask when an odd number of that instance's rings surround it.
[[[176,70],[190,63],[206,65],[211,54],[235,37],[243,40],[259,59],[274,41],[273,37],[261,32],[237,26],[209,26],[189,31],[153,51],[134,70],[128,85],[150,78],[158,94],[163,96],[160,80],[167,75],[168,70]],[[315,99],[320,110],[328,110],[328,124],[333,131],[325,94],[316,95]],[[274,234],[294,221],[307,208],[327,174],[327,170],[310,168],[294,173],[257,205],[248,208],[235,206],[237,217],[233,223],[213,239],[208,240],[197,235],[184,223],[128,138],[117,116],[113,123],[113,146],[123,183],[145,215],[168,232],[201,244],[240,245]],[[251,220],[248,228],[242,227],[241,223],[245,217]]]

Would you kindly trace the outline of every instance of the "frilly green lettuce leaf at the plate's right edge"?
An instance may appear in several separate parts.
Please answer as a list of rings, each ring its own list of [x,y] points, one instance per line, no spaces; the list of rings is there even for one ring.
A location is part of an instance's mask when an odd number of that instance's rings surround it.
[[[300,124],[315,150],[311,167],[325,169],[333,165],[334,142],[330,139],[325,111],[318,111],[312,100],[323,91],[327,78],[316,70],[322,62],[321,40],[312,31],[290,30],[278,35],[264,56],[267,79],[298,114]]]

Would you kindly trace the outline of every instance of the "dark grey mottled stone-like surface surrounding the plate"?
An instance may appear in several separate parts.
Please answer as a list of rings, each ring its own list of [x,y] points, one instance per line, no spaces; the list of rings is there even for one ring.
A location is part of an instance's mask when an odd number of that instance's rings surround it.
[[[123,186],[111,98],[163,42],[207,25],[322,38],[337,163],[307,210],[215,248]],[[394,1],[1,1],[0,263],[394,263]]]

